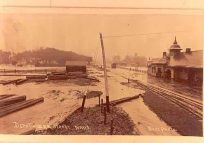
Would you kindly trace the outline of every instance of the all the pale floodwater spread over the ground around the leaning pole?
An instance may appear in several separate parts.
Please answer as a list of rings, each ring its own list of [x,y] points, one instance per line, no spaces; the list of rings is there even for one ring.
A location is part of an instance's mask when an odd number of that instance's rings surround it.
[[[62,68],[60,68],[62,70]],[[101,98],[105,101],[103,71],[89,67],[89,76],[96,77],[100,82],[86,84],[83,79],[34,82],[28,81],[21,85],[0,85],[1,94],[26,95],[27,99],[44,97],[44,103],[20,110],[0,118],[0,133],[20,134],[31,130],[29,127],[16,124],[57,125],[74,110],[81,106],[82,98],[78,95],[85,91],[102,91]],[[25,78],[19,76],[0,76],[0,80]],[[109,69],[108,85],[110,101],[144,93],[143,90],[122,85],[126,78],[148,81],[145,73],[126,69]],[[87,99],[85,107],[95,106],[98,98]],[[121,104],[136,124],[135,130],[142,135],[178,135],[165,122],[159,119],[141,98]],[[36,127],[36,126],[35,126]],[[38,128],[41,129],[40,127]]]

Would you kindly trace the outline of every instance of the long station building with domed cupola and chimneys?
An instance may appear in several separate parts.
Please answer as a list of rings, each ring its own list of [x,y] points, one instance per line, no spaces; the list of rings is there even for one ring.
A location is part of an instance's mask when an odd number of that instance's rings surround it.
[[[181,50],[175,38],[168,54],[163,52],[162,58],[148,61],[148,74],[201,85],[203,82],[203,50],[191,51],[190,48],[186,48],[185,52]]]

